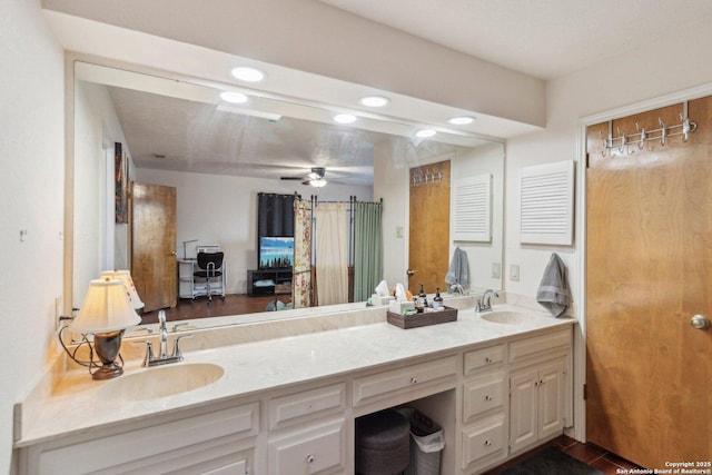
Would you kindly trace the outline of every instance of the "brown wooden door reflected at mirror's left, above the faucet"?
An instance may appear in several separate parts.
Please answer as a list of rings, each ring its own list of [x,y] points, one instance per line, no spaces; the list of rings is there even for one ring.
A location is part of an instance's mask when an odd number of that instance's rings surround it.
[[[144,311],[177,304],[176,188],[131,184],[131,277]]]

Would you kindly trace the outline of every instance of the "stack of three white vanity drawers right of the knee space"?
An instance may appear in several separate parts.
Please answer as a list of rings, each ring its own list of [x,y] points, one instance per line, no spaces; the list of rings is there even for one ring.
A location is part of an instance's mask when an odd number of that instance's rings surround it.
[[[506,345],[464,354],[462,468],[473,473],[507,456]]]

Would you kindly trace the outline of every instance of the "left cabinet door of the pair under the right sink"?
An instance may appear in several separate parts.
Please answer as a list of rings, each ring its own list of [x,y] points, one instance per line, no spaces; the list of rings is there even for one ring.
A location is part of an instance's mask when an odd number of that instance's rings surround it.
[[[516,452],[538,438],[538,370],[523,370],[510,378],[510,447]]]

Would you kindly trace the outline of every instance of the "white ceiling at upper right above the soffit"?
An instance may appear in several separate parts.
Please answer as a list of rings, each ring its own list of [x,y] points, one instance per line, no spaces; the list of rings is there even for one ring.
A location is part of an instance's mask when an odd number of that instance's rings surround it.
[[[710,28],[710,0],[320,0],[542,79]]]

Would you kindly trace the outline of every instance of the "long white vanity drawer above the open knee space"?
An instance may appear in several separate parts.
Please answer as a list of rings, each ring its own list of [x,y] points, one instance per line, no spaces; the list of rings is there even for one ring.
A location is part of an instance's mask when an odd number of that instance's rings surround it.
[[[434,359],[354,380],[354,406],[378,400],[457,374],[457,357]]]

